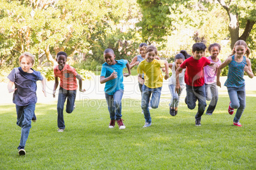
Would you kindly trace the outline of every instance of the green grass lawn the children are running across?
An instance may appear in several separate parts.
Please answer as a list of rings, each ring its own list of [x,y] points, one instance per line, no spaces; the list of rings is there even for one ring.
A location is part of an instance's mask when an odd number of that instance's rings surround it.
[[[17,153],[15,105],[1,105],[0,169],[255,169],[256,98],[246,102],[241,128],[227,114],[227,97],[219,98],[213,115],[203,115],[202,126],[195,126],[196,109],[183,105],[172,117],[161,103],[150,110],[152,126],[142,128],[140,101],[125,100],[126,129],[120,130],[108,128],[105,100],[77,101],[72,114],[64,113],[63,133],[57,132],[56,103],[37,104],[25,156]]]

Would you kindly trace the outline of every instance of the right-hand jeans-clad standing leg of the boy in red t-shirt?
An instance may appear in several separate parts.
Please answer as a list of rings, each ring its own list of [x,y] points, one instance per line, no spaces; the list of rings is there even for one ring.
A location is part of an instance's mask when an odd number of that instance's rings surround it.
[[[196,120],[201,120],[201,116],[204,114],[206,107],[205,86],[194,87],[194,92],[198,100],[198,111],[195,118]]]

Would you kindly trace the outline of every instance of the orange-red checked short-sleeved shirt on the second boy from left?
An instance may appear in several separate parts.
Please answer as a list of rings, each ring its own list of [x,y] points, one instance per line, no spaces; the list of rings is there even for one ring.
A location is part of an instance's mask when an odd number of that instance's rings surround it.
[[[60,78],[60,87],[66,90],[76,90],[78,88],[76,75],[76,70],[68,64],[65,64],[62,70],[59,70],[59,65],[54,68],[54,76]]]

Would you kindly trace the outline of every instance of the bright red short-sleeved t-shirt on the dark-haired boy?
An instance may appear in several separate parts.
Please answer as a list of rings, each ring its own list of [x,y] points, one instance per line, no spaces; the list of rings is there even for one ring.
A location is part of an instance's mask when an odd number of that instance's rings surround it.
[[[204,85],[204,67],[210,65],[210,60],[205,56],[199,60],[195,60],[193,57],[188,58],[180,67],[186,69],[185,83],[189,86],[203,86]]]

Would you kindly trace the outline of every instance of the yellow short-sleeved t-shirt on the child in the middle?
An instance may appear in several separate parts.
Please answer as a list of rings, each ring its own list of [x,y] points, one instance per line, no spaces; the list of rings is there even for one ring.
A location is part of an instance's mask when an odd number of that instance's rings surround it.
[[[162,87],[163,76],[161,73],[161,67],[164,67],[164,60],[153,60],[152,62],[146,62],[143,60],[139,63],[138,74],[144,73],[144,84],[148,88],[160,88]]]

